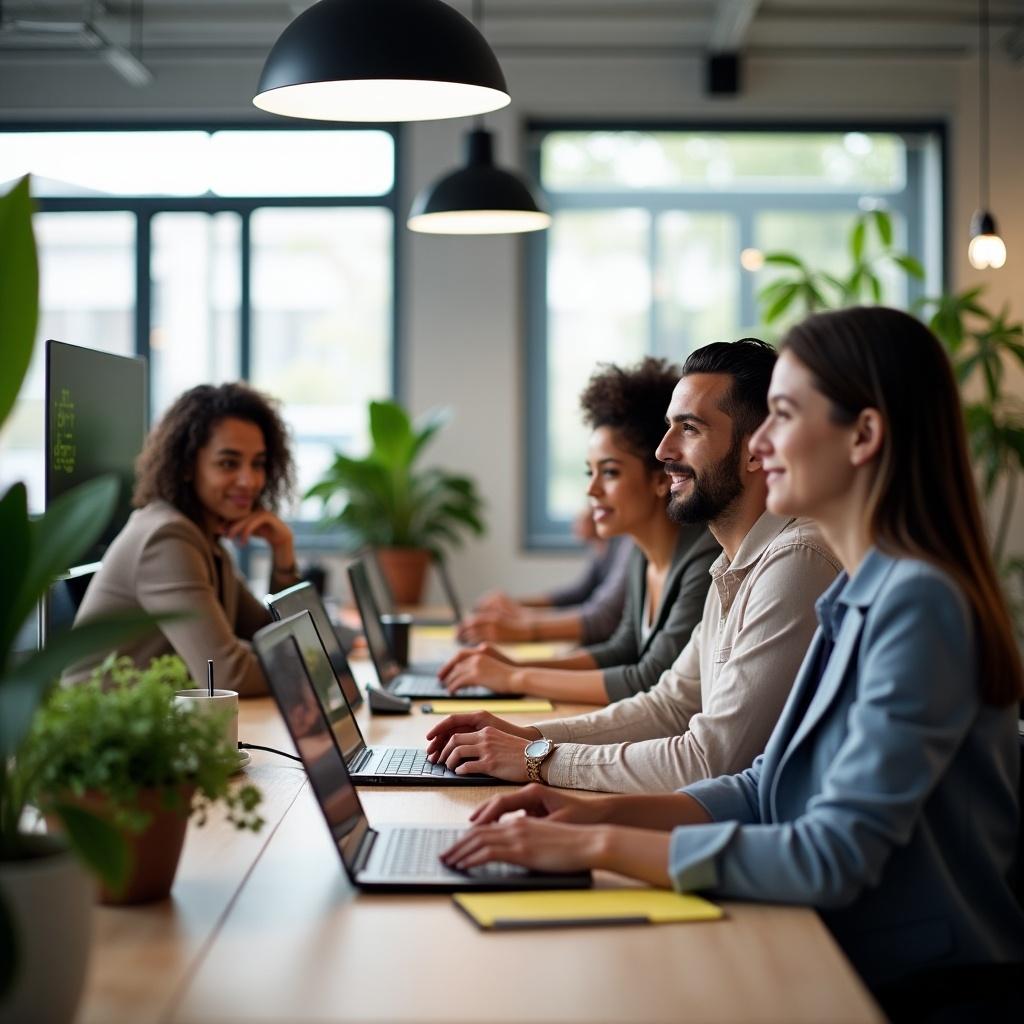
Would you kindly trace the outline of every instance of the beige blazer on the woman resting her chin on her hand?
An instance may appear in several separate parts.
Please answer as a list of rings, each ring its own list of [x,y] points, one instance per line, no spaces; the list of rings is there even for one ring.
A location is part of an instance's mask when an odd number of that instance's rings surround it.
[[[140,667],[176,653],[201,686],[212,657],[219,688],[244,696],[266,693],[266,680],[247,641],[270,622],[270,613],[249,592],[220,544],[166,502],[152,502],[128,518],[89,584],[75,625],[132,609],[187,611],[191,617],[161,626],[123,644],[118,653]],[[83,675],[76,669],[70,678]]]

